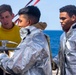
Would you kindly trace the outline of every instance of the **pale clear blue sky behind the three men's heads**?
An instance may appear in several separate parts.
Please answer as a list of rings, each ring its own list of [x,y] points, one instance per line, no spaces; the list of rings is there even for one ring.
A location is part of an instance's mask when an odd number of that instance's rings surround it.
[[[30,0],[0,0],[1,4],[10,4],[14,14],[23,8]],[[34,4],[36,0],[30,4]],[[40,21],[47,23],[46,30],[62,30],[59,22],[59,9],[65,5],[76,5],[75,0],[40,0],[36,6],[41,11]]]

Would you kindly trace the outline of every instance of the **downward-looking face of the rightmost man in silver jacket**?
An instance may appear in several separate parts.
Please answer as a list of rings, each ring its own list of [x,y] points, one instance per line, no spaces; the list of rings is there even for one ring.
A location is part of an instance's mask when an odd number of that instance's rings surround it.
[[[75,15],[70,17],[67,12],[60,13],[60,23],[61,23],[62,29],[65,32],[68,32],[68,30],[70,29],[74,21],[75,21]]]

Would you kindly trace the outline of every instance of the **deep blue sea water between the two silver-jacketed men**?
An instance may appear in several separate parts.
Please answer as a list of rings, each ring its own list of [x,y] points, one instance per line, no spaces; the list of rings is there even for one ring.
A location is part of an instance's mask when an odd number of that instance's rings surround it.
[[[45,30],[44,33],[50,37],[50,50],[52,52],[52,57],[55,57],[59,51],[60,36],[63,33],[63,31]]]

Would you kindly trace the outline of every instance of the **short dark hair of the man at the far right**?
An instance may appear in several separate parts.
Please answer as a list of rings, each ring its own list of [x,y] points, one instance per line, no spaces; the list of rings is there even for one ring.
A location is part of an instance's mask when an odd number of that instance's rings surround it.
[[[60,12],[67,12],[71,17],[72,15],[76,15],[76,6],[75,5],[66,5],[59,9]]]

